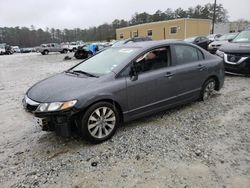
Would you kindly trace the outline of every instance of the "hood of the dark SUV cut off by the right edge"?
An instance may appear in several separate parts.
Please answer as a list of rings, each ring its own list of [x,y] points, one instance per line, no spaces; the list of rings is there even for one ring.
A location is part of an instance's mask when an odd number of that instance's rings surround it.
[[[225,53],[250,53],[250,43],[229,42],[220,48]]]

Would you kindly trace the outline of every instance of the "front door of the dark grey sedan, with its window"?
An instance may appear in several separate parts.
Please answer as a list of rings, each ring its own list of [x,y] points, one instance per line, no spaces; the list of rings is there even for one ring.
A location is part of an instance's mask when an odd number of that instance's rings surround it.
[[[130,116],[160,110],[174,103],[177,95],[176,70],[171,66],[170,48],[160,47],[152,51],[156,53],[154,61],[145,58],[139,62],[135,61],[133,66],[137,66],[137,79],[134,80],[131,76],[126,78]],[[143,56],[147,53],[149,52]],[[141,69],[138,68],[140,66]]]

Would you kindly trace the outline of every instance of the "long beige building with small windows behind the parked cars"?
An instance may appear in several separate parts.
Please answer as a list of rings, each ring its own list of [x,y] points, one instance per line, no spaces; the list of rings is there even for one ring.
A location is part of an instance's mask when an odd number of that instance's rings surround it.
[[[116,39],[146,36],[153,40],[185,39],[198,35],[207,36],[210,29],[211,20],[184,18],[119,28],[116,30]]]

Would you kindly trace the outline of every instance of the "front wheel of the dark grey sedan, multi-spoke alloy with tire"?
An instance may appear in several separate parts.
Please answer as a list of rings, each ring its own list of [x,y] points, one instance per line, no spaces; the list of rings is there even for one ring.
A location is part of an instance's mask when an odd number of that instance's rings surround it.
[[[101,143],[115,134],[119,122],[119,112],[115,105],[98,102],[83,114],[79,129],[84,139],[92,143]]]

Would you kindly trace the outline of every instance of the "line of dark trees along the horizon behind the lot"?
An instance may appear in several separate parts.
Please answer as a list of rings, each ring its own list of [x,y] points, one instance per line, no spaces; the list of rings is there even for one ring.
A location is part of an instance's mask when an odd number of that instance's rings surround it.
[[[9,45],[17,45],[20,47],[33,47],[42,43],[50,42],[70,42],[70,41],[103,41],[115,39],[115,31],[117,28],[143,24],[148,22],[156,22],[163,20],[172,20],[178,18],[213,18],[214,4],[208,3],[204,6],[197,5],[187,10],[177,8],[175,10],[167,9],[165,11],[157,10],[154,14],[146,12],[135,13],[128,21],[115,19],[112,23],[102,24],[97,27],[88,29],[54,29],[46,28],[45,30],[34,26],[27,27],[0,27],[0,43]],[[223,8],[222,4],[216,6],[215,22],[227,22],[228,12]]]

